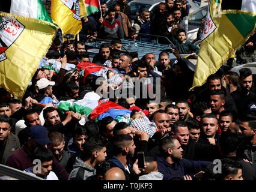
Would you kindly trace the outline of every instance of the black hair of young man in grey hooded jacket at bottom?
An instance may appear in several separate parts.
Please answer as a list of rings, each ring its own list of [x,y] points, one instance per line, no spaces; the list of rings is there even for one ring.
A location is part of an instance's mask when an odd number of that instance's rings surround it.
[[[89,136],[83,144],[84,150],[81,151],[81,159],[83,161],[88,160],[94,151],[101,151],[102,148],[106,147],[106,144],[106,139],[101,135]]]

